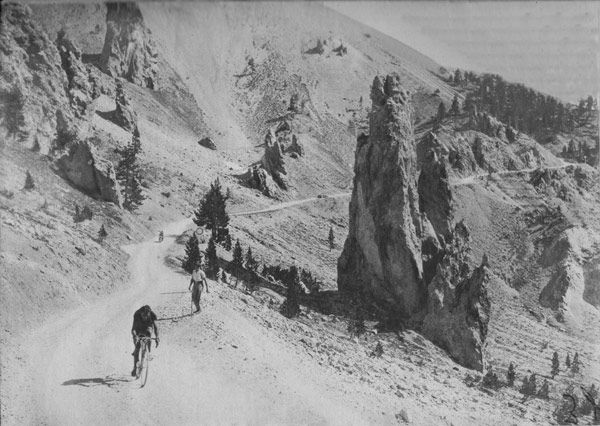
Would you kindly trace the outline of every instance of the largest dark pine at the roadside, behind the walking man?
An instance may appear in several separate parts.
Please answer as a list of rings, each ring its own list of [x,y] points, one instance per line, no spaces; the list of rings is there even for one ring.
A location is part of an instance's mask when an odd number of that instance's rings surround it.
[[[194,223],[206,226],[211,230],[215,243],[225,241],[229,235],[229,215],[225,211],[227,197],[223,194],[221,183],[217,178],[210,184],[210,189],[200,201],[198,210],[194,212]]]

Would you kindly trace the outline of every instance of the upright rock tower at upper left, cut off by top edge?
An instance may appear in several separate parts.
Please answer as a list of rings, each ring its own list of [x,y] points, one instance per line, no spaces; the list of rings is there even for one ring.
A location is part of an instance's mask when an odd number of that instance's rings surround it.
[[[158,89],[158,53],[139,7],[129,2],[107,3],[106,9],[102,70],[138,86]]]

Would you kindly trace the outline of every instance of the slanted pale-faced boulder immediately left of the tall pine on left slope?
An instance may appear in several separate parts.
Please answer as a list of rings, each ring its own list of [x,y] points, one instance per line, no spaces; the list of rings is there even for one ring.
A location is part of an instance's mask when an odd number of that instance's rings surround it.
[[[89,142],[76,142],[56,161],[59,170],[91,197],[121,206],[121,194],[112,162],[101,158]]]

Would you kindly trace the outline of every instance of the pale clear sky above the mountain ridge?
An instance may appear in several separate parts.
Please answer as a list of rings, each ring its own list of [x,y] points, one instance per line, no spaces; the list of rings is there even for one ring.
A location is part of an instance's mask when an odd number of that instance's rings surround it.
[[[567,102],[600,93],[597,1],[336,1],[325,5],[447,67],[497,73]]]

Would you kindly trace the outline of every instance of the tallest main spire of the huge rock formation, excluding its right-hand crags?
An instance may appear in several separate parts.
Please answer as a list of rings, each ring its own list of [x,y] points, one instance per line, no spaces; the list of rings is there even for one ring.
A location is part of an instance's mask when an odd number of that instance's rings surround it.
[[[367,290],[409,317],[426,301],[412,109],[397,75],[376,77],[371,100],[370,136],[356,149],[350,232],[338,261],[338,285]]]

